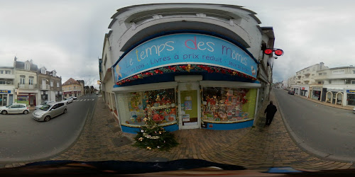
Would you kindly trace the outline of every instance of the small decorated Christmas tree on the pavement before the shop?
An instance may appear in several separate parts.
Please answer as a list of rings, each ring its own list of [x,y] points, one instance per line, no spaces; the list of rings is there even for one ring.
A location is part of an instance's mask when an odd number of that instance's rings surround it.
[[[134,138],[136,143],[133,146],[165,151],[178,146],[179,143],[176,142],[172,133],[165,131],[163,127],[160,127],[151,118],[144,118],[144,120],[146,120],[146,125],[142,127],[141,132],[138,132]]]

